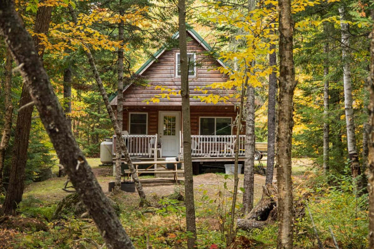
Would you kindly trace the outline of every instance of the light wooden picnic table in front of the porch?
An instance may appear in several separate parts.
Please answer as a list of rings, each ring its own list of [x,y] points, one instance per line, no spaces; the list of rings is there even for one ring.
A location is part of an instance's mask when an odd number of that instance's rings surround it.
[[[138,176],[142,173],[174,173],[174,180],[176,183],[178,182],[178,173],[184,173],[184,169],[177,169],[178,164],[183,164],[183,161],[133,162],[132,164],[135,166],[135,171],[137,172]],[[138,166],[142,164],[151,164],[151,165],[145,169],[138,169]],[[174,169],[166,168],[166,164],[174,164]],[[157,168],[157,165],[162,166],[162,168]],[[131,176],[130,169],[125,169],[123,171],[124,175],[126,173],[128,174],[128,178],[129,178],[129,176]]]

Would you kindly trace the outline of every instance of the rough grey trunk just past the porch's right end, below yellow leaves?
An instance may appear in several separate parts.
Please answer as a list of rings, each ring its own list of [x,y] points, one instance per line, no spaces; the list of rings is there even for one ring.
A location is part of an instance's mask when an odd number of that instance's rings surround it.
[[[254,163],[255,163],[255,91],[251,85],[246,90],[245,162],[243,179],[243,214],[253,208]]]

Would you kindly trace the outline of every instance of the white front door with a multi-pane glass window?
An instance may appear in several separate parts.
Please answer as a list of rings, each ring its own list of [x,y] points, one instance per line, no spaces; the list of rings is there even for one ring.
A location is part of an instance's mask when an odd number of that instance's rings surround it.
[[[180,112],[159,113],[159,138],[162,143],[162,156],[178,156]]]

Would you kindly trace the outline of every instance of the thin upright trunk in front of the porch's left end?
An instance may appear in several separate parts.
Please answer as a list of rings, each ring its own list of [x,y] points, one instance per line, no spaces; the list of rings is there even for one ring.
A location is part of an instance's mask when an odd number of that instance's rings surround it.
[[[123,16],[122,1],[119,3],[119,15]],[[119,129],[123,130],[123,20],[121,19],[118,24],[118,41],[120,46],[118,48],[118,88],[117,88],[117,123]],[[119,143],[116,143],[116,176],[115,176],[115,189],[121,189],[121,158],[122,149]]]

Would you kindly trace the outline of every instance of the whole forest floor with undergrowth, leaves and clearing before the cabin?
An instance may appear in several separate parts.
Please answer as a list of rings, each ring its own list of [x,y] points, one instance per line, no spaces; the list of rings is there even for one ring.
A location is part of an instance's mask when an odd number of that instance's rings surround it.
[[[151,206],[140,208],[138,206],[139,196],[136,192],[121,192],[116,195],[108,193],[108,182],[114,180],[111,166],[98,166],[99,159],[96,158],[88,159],[88,162],[102,190],[120,205],[120,221],[134,242],[135,248],[146,248],[147,243],[153,245],[153,248],[185,248],[187,235],[183,231],[185,227],[184,205],[183,202],[177,202],[172,198],[180,193],[184,194],[183,177],[178,177],[180,181],[175,183],[173,178],[141,176],[140,179]],[[292,162],[293,182],[294,186],[298,186],[308,177],[310,171],[307,170],[307,166],[311,166],[311,161],[293,159]],[[57,168],[53,169],[53,171],[56,170]],[[276,171],[274,179],[275,176]],[[103,243],[96,228],[85,228],[92,224],[89,218],[82,219],[74,215],[67,215],[57,221],[49,218],[56,208],[56,203],[68,194],[62,190],[66,180],[66,176],[55,177],[26,186],[19,208],[21,219],[26,219],[26,221],[37,219],[38,222],[44,222],[46,228],[42,231],[34,228],[27,231],[21,231],[18,228],[0,229],[0,248],[96,248],[84,238],[92,239],[98,244]],[[254,204],[256,204],[261,198],[265,177],[255,174],[254,180]],[[243,175],[239,174],[238,210],[242,203],[243,193],[240,190],[242,186]],[[213,244],[218,245],[218,248],[225,248],[220,227],[228,224],[226,215],[229,214],[232,189],[233,175],[206,173],[194,176],[198,248],[210,248]],[[274,248],[276,225],[269,226],[269,229],[264,230],[262,234],[251,233],[252,235],[239,231],[237,238],[246,240],[247,237],[253,237],[261,241],[258,242],[260,247],[248,248]],[[244,237],[240,237],[241,235]]]

